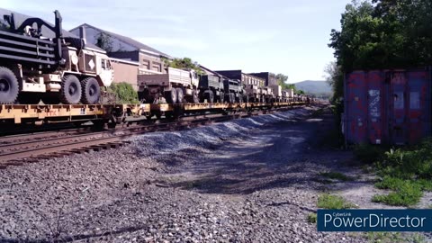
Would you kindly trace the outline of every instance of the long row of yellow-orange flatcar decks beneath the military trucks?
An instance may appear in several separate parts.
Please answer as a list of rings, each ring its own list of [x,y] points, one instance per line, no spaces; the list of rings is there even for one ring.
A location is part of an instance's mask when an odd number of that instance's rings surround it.
[[[233,112],[293,106],[290,103],[182,103],[182,104],[0,104],[0,122],[55,123],[74,121],[136,121],[156,115],[181,116],[184,113]],[[119,119],[121,118],[121,119]],[[0,123],[1,124],[1,123]]]

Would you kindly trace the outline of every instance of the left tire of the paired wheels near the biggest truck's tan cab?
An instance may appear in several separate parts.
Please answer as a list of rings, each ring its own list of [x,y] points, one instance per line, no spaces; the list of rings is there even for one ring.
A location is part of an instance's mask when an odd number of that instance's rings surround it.
[[[81,100],[81,84],[74,75],[67,75],[61,78],[60,102],[76,104]]]

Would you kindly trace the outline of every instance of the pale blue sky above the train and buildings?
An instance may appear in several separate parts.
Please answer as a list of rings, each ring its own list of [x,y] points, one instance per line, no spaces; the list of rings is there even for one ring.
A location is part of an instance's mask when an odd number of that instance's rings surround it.
[[[242,69],[323,80],[331,29],[350,0],[2,0],[2,8],[70,30],[88,23],[213,70]]]

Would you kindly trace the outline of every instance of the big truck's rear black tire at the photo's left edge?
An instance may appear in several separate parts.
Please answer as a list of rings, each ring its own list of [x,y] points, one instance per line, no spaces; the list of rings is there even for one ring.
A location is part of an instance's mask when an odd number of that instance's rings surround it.
[[[14,72],[7,67],[0,67],[0,103],[14,103],[19,91]]]

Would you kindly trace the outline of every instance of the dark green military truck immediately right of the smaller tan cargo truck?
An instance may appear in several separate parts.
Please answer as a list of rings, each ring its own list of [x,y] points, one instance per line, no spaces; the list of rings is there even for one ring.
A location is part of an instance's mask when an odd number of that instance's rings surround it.
[[[223,103],[225,93],[221,76],[201,76],[198,89],[200,90],[201,103]]]

